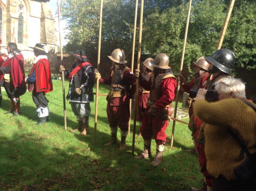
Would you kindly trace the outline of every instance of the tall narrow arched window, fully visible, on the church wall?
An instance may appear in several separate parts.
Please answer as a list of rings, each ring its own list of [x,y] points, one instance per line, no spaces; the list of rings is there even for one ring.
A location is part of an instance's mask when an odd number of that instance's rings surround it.
[[[18,43],[23,43],[23,24],[24,24],[24,16],[26,16],[26,6],[23,2],[23,0],[20,0],[18,3]]]

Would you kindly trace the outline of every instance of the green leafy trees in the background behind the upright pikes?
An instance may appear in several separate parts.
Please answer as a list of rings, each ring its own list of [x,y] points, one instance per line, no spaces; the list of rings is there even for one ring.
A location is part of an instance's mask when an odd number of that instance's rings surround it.
[[[70,33],[67,50],[82,48],[97,55],[100,0],[62,0],[62,15]],[[131,55],[134,5],[131,0],[104,0],[102,58],[115,48]],[[218,44],[230,0],[195,0],[189,21],[184,64],[189,67],[202,55],[212,55]],[[166,52],[178,72],[183,48],[188,0],[145,0],[142,50],[154,56]],[[236,0],[222,44],[236,55],[235,67],[256,68],[256,1]],[[138,7],[137,30],[140,5]],[[137,52],[137,51],[136,51]]]

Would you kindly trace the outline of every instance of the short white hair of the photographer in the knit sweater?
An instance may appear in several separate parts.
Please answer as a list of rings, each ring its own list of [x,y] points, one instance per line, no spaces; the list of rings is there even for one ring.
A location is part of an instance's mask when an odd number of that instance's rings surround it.
[[[224,78],[220,83],[216,84],[215,89],[220,86],[219,93],[234,93],[234,98],[246,99],[245,84],[238,78]]]

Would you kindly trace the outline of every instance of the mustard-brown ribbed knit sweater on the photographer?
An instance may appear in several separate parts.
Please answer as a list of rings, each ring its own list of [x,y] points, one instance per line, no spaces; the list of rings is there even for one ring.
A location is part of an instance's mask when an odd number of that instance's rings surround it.
[[[227,128],[230,127],[238,135],[250,153],[256,152],[256,112],[236,98],[212,103],[197,100],[194,112],[207,123],[204,129],[207,171],[215,178],[222,174],[228,180],[236,179],[234,168],[244,159],[240,158],[241,147]]]

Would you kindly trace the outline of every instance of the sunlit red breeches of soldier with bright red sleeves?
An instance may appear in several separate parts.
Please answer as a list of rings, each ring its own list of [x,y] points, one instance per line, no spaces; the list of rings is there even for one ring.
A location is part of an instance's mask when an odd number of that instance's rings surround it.
[[[169,120],[162,120],[159,117],[149,117],[147,115],[148,108],[145,110],[142,127],[140,133],[143,139],[155,139],[157,145],[165,145],[166,133],[165,130],[169,125]]]

